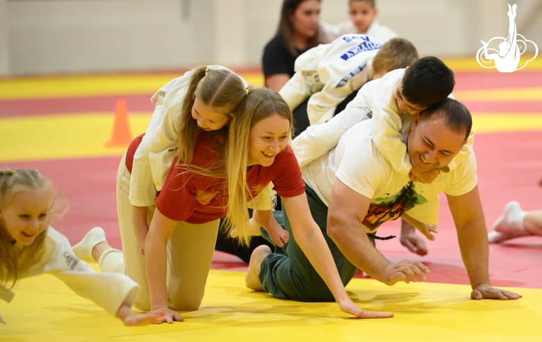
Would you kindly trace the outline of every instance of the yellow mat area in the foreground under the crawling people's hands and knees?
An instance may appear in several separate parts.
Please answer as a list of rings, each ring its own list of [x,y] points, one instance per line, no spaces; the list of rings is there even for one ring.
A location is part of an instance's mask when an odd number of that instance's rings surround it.
[[[124,327],[51,275],[23,279],[0,341],[542,341],[542,290],[516,301],[470,300],[470,286],[352,279],[350,298],[394,318],[361,320],[336,303],[277,300],[245,288],[245,272],[211,270],[202,307],[171,325]]]

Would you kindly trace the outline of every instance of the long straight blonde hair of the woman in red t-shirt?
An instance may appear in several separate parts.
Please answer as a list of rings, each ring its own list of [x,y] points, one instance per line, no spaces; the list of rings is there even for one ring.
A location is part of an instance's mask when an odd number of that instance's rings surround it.
[[[228,174],[227,232],[236,229],[240,243],[247,245],[248,235],[247,164],[249,156],[250,129],[272,115],[286,117],[290,122],[288,142],[293,131],[292,111],[278,92],[259,88],[249,92],[231,119],[224,164]]]

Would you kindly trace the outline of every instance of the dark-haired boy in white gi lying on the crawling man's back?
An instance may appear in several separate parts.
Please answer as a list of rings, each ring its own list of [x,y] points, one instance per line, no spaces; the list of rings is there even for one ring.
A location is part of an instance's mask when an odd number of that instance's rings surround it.
[[[402,122],[410,120],[412,115],[417,115],[432,104],[451,96],[454,85],[452,70],[436,57],[420,58],[410,67],[393,70],[381,79],[366,83],[354,100],[347,105],[345,111],[324,124],[309,127],[293,140],[299,166],[304,167],[329,152],[337,145],[347,129],[361,120],[372,117],[372,140],[379,153],[390,161],[397,172],[409,174],[414,181],[431,183],[441,171],[453,170],[472,152],[474,132],[470,132],[468,142],[445,170],[432,169],[427,172],[418,172],[412,168],[407,154],[407,145],[400,133]],[[310,140],[311,144],[306,143],[307,140]],[[431,142],[426,143],[431,144]],[[403,218],[410,222],[406,215]],[[432,231],[430,227],[420,226],[417,222],[410,223],[429,238],[427,234]],[[429,239],[432,240],[432,238]],[[403,229],[401,242],[412,252],[421,255],[427,253],[427,249],[423,246],[425,243],[417,239],[413,231],[407,232]]]

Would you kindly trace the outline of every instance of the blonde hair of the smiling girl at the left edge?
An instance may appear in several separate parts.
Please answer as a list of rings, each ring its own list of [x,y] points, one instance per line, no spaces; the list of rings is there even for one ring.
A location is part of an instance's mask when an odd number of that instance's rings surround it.
[[[0,209],[8,206],[19,191],[51,189],[51,183],[36,170],[0,170]],[[44,251],[47,229],[31,245],[17,248],[0,220],[0,284],[15,285],[19,275],[31,268]]]

